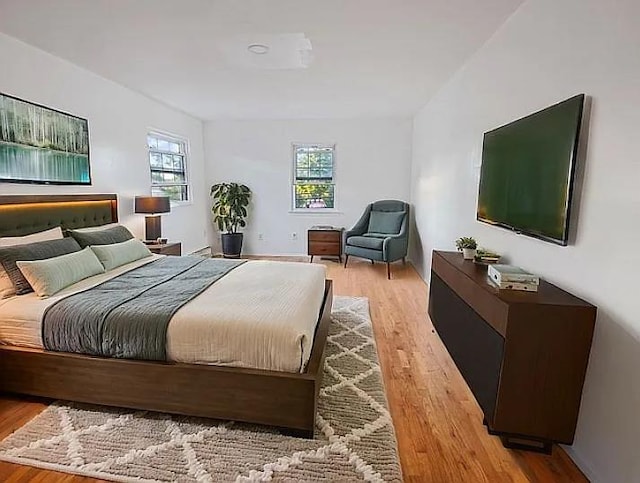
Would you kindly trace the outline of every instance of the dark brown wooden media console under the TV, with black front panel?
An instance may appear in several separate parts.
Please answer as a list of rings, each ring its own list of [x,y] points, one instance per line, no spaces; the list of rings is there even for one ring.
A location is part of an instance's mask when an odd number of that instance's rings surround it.
[[[596,307],[543,280],[498,290],[486,266],[434,251],[429,315],[491,434],[543,452],[573,443]]]

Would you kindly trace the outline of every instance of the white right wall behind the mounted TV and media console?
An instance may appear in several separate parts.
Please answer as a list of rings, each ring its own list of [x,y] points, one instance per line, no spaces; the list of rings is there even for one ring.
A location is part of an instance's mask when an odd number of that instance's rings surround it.
[[[576,440],[594,481],[640,481],[640,2],[526,2],[414,120],[412,256],[473,235],[598,306]],[[559,247],[475,221],[482,134],[584,92],[590,135],[576,240]]]

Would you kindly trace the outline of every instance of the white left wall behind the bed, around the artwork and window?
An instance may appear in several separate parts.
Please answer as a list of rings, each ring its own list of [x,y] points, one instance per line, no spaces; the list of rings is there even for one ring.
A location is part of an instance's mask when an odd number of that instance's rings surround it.
[[[93,178],[90,187],[0,183],[1,194],[117,193],[122,223],[142,237],[133,197],[150,193],[146,134],[159,129],[190,142],[194,200],[163,216],[163,234],[182,241],[183,252],[208,244],[201,121],[3,34],[0,66],[0,92],[89,120]]]

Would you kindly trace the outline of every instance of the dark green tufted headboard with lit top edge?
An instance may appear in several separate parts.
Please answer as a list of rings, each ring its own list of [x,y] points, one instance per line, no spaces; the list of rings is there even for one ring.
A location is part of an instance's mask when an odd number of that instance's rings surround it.
[[[118,198],[96,195],[0,196],[0,237],[23,236],[56,226],[85,228],[118,221]]]

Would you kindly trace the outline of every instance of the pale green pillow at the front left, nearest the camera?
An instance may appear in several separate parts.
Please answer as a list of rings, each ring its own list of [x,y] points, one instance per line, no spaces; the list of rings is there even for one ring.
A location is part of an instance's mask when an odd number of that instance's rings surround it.
[[[80,280],[104,273],[90,248],[45,260],[18,261],[16,265],[40,297],[51,296]]]

